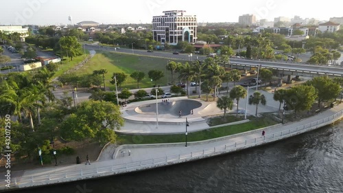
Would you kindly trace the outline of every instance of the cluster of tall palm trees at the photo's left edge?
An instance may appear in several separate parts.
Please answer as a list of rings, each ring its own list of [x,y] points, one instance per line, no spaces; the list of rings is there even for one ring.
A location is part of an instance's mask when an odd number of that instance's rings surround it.
[[[47,68],[40,69],[36,74],[10,73],[0,83],[1,117],[16,115],[19,122],[28,118],[29,125],[34,130],[34,117],[40,124],[40,108],[47,101],[55,100],[52,93],[54,87],[49,79],[54,75]]]

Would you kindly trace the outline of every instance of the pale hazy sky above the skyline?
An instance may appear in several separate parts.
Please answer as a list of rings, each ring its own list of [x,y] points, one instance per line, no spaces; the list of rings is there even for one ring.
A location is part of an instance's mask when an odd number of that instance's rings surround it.
[[[242,14],[274,21],[275,17],[315,18],[329,21],[343,16],[341,1],[300,0],[1,0],[0,25],[60,25],[80,21],[104,24],[151,23],[165,10],[185,10],[198,22],[238,22]]]

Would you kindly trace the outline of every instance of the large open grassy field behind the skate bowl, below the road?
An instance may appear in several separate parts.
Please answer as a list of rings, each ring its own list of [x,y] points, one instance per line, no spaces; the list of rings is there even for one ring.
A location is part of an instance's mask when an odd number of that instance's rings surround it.
[[[170,81],[171,79],[170,72],[166,70],[167,63],[168,59],[165,58],[97,51],[97,54],[95,54],[91,59],[91,62],[78,69],[77,73],[93,73],[94,70],[107,69],[108,73],[105,75],[106,87],[110,87],[110,90],[115,90],[115,85],[110,84],[110,80],[113,78],[113,73],[123,72],[128,75],[128,78],[121,87],[137,89],[137,82],[130,77],[130,74],[134,71],[143,71],[145,73],[145,78],[139,82],[140,88],[152,87],[154,84],[154,82],[151,82],[150,78],[147,76],[147,72],[152,69],[158,69],[165,73],[165,77],[158,80],[157,85],[167,85],[167,80]]]

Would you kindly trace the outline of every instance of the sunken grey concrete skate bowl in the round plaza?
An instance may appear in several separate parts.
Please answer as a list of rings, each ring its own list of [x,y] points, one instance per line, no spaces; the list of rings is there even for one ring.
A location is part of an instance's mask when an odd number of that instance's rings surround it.
[[[182,111],[182,116],[191,114],[192,109],[198,109],[202,106],[201,102],[196,100],[178,100],[170,102],[169,104],[164,104],[163,102],[158,103],[158,114],[169,114],[178,116],[178,112]],[[156,113],[156,103],[155,104],[145,104],[138,106],[134,109],[136,113],[155,115]]]

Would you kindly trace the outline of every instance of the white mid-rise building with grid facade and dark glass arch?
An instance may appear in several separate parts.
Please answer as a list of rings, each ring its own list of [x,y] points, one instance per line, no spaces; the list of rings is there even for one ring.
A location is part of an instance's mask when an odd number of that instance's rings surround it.
[[[152,34],[155,41],[176,45],[180,41],[196,43],[198,21],[196,15],[172,10],[152,17]]]

